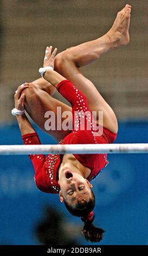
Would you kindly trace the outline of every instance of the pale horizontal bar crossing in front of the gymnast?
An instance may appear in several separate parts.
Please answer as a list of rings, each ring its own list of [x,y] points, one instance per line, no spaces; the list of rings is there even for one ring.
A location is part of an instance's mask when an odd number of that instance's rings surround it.
[[[148,143],[137,144],[65,144],[65,145],[1,145],[0,155],[30,154],[120,154],[148,153]]]

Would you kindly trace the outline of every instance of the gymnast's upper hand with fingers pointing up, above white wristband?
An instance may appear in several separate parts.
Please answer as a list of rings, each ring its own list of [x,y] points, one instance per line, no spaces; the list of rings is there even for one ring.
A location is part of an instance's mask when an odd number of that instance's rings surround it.
[[[54,69],[54,58],[55,58],[55,54],[57,52],[57,48],[54,49],[53,53],[52,53],[52,48],[53,48],[53,46],[46,47],[43,68],[46,68],[46,66],[52,66],[52,68]]]

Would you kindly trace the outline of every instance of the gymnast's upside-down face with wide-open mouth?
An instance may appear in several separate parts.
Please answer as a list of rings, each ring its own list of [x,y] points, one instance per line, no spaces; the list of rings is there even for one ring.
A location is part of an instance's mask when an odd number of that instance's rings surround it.
[[[62,203],[65,200],[70,205],[77,204],[78,200],[89,202],[89,199],[92,198],[91,187],[89,181],[79,173],[66,170],[60,181],[60,201]]]

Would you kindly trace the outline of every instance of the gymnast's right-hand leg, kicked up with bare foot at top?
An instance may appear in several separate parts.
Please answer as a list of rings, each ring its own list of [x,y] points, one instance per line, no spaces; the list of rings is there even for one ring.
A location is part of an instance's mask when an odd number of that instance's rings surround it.
[[[104,36],[69,48],[57,54],[55,59],[55,70],[72,81],[85,94],[91,111],[104,112],[103,125],[112,132],[118,131],[117,118],[112,108],[102,98],[94,84],[81,74],[79,68],[94,62],[101,54],[112,48],[128,44],[130,40],[128,34],[130,13],[131,6],[126,5],[117,14],[112,28]],[[99,123],[99,119],[97,123]],[[101,123],[99,124],[102,125]]]

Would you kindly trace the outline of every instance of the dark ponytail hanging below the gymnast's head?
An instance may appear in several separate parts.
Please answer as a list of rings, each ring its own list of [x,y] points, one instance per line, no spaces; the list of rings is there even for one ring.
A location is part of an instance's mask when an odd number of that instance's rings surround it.
[[[93,211],[87,217],[82,217],[81,220],[85,223],[82,233],[87,240],[91,242],[100,242],[103,238],[104,229],[96,228],[92,222],[94,221]]]

